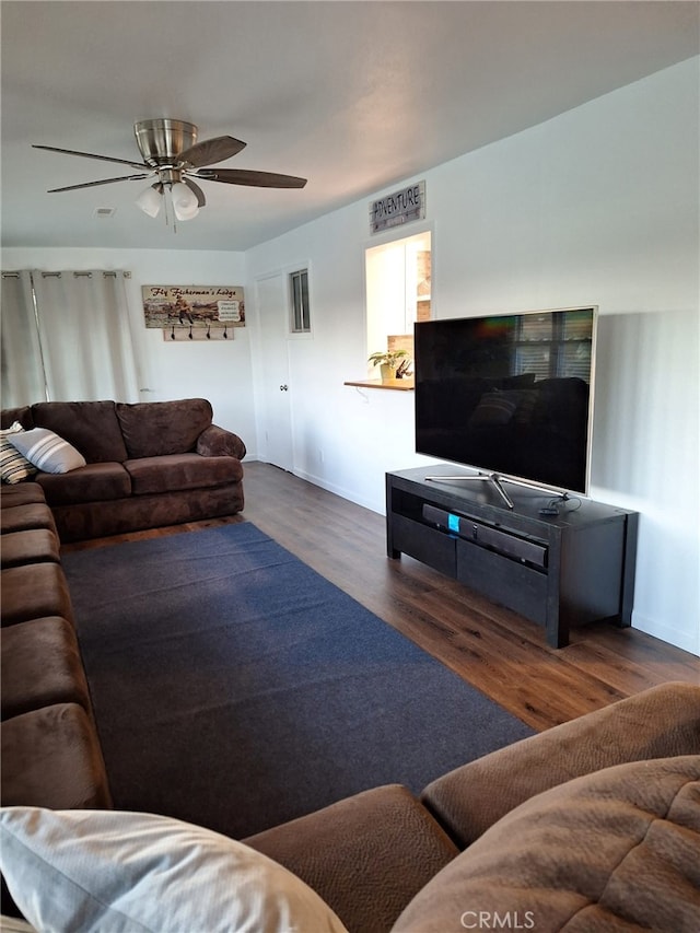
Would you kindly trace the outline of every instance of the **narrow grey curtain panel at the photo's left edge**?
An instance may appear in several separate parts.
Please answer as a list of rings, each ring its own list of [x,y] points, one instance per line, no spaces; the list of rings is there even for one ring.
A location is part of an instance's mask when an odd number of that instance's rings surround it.
[[[46,378],[28,271],[2,273],[0,359],[3,408],[46,400]]]

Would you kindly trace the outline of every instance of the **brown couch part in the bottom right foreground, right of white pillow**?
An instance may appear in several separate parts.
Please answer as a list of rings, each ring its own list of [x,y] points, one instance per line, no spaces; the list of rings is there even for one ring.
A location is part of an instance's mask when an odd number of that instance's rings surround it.
[[[517,742],[418,800],[377,788],[245,842],[350,933],[697,933],[700,686],[665,684]]]

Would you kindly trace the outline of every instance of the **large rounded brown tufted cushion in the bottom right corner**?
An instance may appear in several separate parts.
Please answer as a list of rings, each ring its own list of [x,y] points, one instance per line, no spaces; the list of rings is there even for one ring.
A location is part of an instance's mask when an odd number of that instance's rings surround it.
[[[538,794],[440,872],[396,933],[700,929],[700,756],[618,765]]]

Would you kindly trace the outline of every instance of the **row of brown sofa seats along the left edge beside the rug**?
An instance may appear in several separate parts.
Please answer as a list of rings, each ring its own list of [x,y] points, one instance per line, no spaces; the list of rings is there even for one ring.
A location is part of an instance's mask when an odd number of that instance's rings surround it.
[[[0,529],[2,805],[109,806],[58,534],[40,487],[2,487]]]

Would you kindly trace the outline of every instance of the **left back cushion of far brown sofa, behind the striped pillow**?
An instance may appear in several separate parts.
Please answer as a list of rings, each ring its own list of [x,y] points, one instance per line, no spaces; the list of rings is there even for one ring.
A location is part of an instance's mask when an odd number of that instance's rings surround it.
[[[127,459],[114,401],[40,401],[32,406],[32,415],[37,428],[68,441],[89,464]]]

